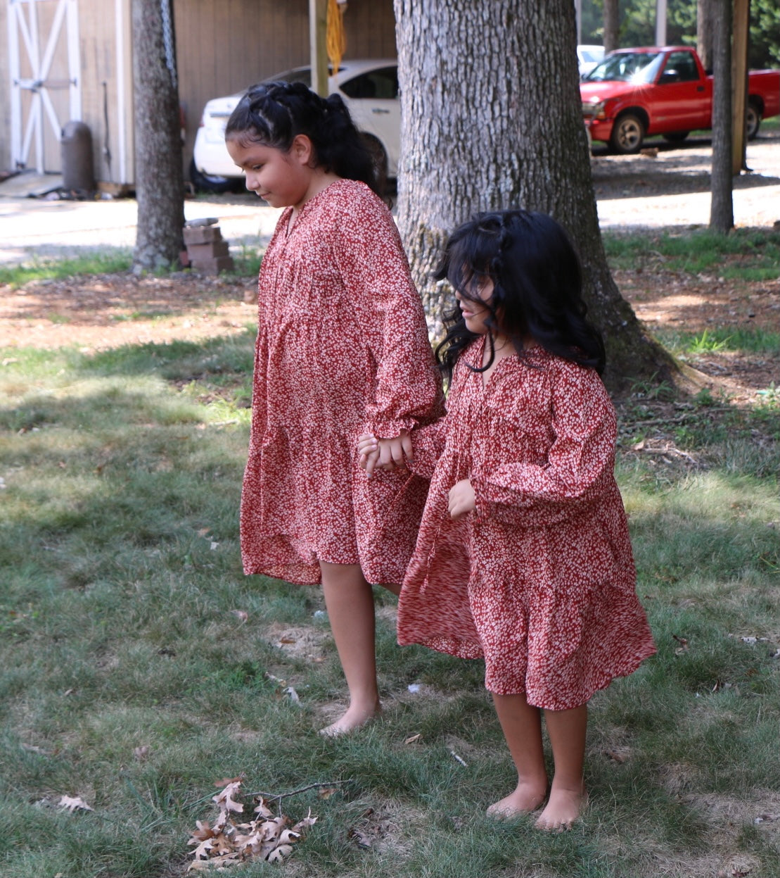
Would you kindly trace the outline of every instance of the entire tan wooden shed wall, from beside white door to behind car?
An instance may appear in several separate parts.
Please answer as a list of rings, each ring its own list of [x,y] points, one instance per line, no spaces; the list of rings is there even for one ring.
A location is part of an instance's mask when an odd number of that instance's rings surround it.
[[[92,133],[95,177],[132,184],[131,0],[77,0],[83,121]],[[185,113],[185,168],[204,104],[309,61],[308,0],[174,0],[179,98]],[[350,0],[346,58],[396,57],[392,0]],[[0,0],[0,40],[8,46],[8,5]],[[7,51],[0,50],[0,169],[11,167]],[[61,113],[61,124],[68,113]],[[56,140],[47,170],[60,170]]]

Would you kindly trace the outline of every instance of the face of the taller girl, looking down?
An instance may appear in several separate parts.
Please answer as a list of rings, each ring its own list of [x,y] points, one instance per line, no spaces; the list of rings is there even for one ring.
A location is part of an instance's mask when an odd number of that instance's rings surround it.
[[[311,144],[296,137],[289,152],[237,137],[225,141],[227,151],[247,175],[247,189],[271,207],[300,207],[306,200],[313,171]]]

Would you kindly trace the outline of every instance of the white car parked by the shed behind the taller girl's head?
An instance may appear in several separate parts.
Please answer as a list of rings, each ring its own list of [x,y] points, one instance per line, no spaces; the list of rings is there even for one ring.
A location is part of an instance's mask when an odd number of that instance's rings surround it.
[[[279,80],[311,85],[311,68],[286,70],[268,76],[265,82]],[[331,94],[337,92],[344,99],[386,175],[396,177],[401,151],[398,62],[387,58],[342,61],[339,72],[329,77],[328,88]],[[190,180],[197,189],[224,192],[237,188],[243,179],[225,148],[225,124],[242,94],[215,97],[204,107],[190,164]]]

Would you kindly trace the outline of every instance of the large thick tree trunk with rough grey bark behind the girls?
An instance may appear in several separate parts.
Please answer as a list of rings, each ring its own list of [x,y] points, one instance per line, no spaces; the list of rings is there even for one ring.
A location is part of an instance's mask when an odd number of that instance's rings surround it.
[[[478,211],[546,212],[583,263],[612,387],[668,377],[606,263],[590,177],[570,0],[395,0],[402,96],[399,227],[430,317],[444,241]]]

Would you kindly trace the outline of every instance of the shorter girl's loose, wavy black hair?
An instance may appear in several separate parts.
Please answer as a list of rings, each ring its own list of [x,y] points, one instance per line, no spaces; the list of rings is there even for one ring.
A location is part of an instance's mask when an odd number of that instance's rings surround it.
[[[479,213],[456,229],[435,275],[445,278],[464,299],[487,307],[490,357],[493,335],[506,335],[519,354],[531,336],[541,348],[599,374],[605,367],[604,341],[586,320],[580,261],[569,236],[544,213],[507,210]],[[493,282],[490,300],[478,288]],[[470,332],[457,303],[444,315],[447,335],[436,349],[440,369],[452,377],[463,349],[477,336]]]

